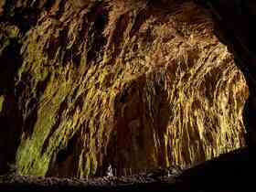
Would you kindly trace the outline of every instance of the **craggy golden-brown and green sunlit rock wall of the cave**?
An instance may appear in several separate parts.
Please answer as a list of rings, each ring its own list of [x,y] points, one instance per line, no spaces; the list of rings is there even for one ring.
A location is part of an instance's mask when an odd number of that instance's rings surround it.
[[[130,175],[244,145],[248,87],[194,3],[15,2],[0,4],[2,168]]]

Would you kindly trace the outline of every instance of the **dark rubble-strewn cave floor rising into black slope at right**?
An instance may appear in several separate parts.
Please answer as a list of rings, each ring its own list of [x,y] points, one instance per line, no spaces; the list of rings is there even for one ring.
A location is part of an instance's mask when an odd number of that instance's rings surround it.
[[[0,176],[0,191],[254,191],[255,147],[246,147],[185,170],[179,175],[106,176],[88,180],[42,177]]]

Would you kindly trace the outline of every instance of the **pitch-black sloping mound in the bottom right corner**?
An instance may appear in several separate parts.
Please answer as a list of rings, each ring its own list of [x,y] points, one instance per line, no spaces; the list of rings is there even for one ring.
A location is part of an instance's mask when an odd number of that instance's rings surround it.
[[[254,191],[255,147],[247,147],[187,169],[178,191]],[[183,184],[183,185],[180,185]]]

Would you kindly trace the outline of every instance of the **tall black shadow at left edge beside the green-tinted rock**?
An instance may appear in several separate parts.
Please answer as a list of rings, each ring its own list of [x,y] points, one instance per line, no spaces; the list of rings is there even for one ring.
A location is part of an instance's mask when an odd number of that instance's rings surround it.
[[[0,112],[0,175],[15,163],[22,125],[15,95],[16,72],[22,63],[19,56],[21,45],[17,38],[9,40],[9,45],[0,54],[0,95],[4,97]]]

